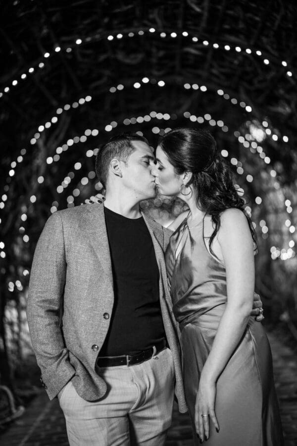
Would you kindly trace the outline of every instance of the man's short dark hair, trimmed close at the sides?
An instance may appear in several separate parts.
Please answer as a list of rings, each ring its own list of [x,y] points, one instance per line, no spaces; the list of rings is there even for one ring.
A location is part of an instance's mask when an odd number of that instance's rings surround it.
[[[102,144],[96,157],[96,174],[99,181],[106,187],[110,161],[116,158],[127,162],[129,156],[135,151],[132,141],[148,143],[147,138],[137,133],[120,133],[112,136],[107,143]]]

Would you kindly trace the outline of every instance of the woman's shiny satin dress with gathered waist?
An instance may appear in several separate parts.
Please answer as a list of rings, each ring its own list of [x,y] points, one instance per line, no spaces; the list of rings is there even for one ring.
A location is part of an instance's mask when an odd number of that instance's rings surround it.
[[[171,236],[166,251],[193,429],[199,376],[227,301],[225,268],[207,250],[203,224],[194,220],[189,226],[186,219]],[[220,430],[217,433],[210,420],[207,446],[284,444],[270,345],[261,323],[254,317],[249,318],[242,339],[217,380],[215,412]]]

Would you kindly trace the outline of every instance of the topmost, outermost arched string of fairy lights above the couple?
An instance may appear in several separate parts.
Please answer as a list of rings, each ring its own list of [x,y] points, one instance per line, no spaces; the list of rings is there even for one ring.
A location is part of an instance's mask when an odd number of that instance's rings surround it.
[[[192,40],[192,42],[194,44],[199,44],[202,45],[201,48],[209,48],[212,46],[212,48],[214,50],[221,50],[221,51],[225,51],[225,52],[232,52],[234,51],[235,53],[243,53],[246,54],[248,56],[257,56],[260,57],[262,60],[262,63],[264,65],[270,65],[271,66],[271,62],[268,59],[268,56],[265,57],[262,54],[262,51],[259,49],[250,49],[250,48],[242,48],[239,45],[236,46],[232,46],[229,44],[218,44],[216,42],[209,42],[209,40],[206,39],[201,39],[198,38],[197,36],[193,35],[193,33],[189,32],[189,31],[183,31],[183,32],[176,32],[176,31],[169,31],[169,32],[164,32],[164,31],[157,31],[155,28],[146,28],[146,29],[138,29],[138,30],[134,30],[134,31],[130,31],[127,33],[111,33],[106,35],[105,33],[102,35],[96,34],[94,36],[89,36],[86,37],[85,39],[76,39],[75,42],[72,44],[72,46],[65,46],[63,47],[62,45],[56,45],[53,49],[52,53],[46,52],[44,53],[42,59],[49,59],[49,57],[52,57],[60,52],[65,52],[65,53],[71,53],[73,48],[75,48],[75,46],[80,46],[80,45],[87,45],[90,43],[94,43],[94,42],[99,42],[101,40],[107,40],[108,42],[112,42],[112,41],[119,41],[123,38],[135,38],[135,37],[139,37],[139,36],[144,36],[144,35],[154,35],[154,36],[158,36],[161,40],[165,39],[165,38],[169,38],[169,39],[176,39],[179,35],[181,35],[184,38],[189,38]],[[10,81],[9,85],[6,85],[3,88],[3,91],[0,92],[0,98],[4,95],[7,94],[11,91],[12,87],[15,87],[16,85],[18,85],[19,82],[24,81],[26,79],[28,79],[30,77],[30,75],[33,75],[34,73],[37,72],[37,70],[39,69],[43,69],[45,67],[45,62],[44,61],[38,61],[37,64],[35,66],[31,66],[28,68],[28,70],[26,72],[23,72],[20,76],[19,79],[13,79],[12,81]],[[274,62],[275,63],[275,62]],[[286,75],[288,77],[292,77],[293,76],[293,72],[292,70],[288,69],[288,61],[286,60],[282,60],[281,61],[281,66],[284,67],[284,69],[286,70]]]

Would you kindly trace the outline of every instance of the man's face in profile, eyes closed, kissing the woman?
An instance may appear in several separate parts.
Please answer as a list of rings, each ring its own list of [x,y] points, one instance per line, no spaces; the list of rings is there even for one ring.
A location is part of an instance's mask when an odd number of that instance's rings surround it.
[[[126,163],[122,162],[123,188],[129,190],[139,200],[148,200],[156,195],[156,185],[152,169],[155,158],[152,149],[143,141],[132,141],[135,151]]]

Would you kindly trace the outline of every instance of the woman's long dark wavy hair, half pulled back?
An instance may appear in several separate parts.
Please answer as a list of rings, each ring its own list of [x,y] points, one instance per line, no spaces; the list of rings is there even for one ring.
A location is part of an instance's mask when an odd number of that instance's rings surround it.
[[[238,195],[230,167],[217,150],[212,135],[207,130],[180,127],[162,136],[159,145],[177,174],[193,173],[187,185],[194,187],[198,208],[210,215],[215,225],[209,238],[210,252],[215,255],[211,244],[221,225],[220,215],[229,208],[240,209],[245,214],[256,251],[255,231],[245,212],[245,201]]]

